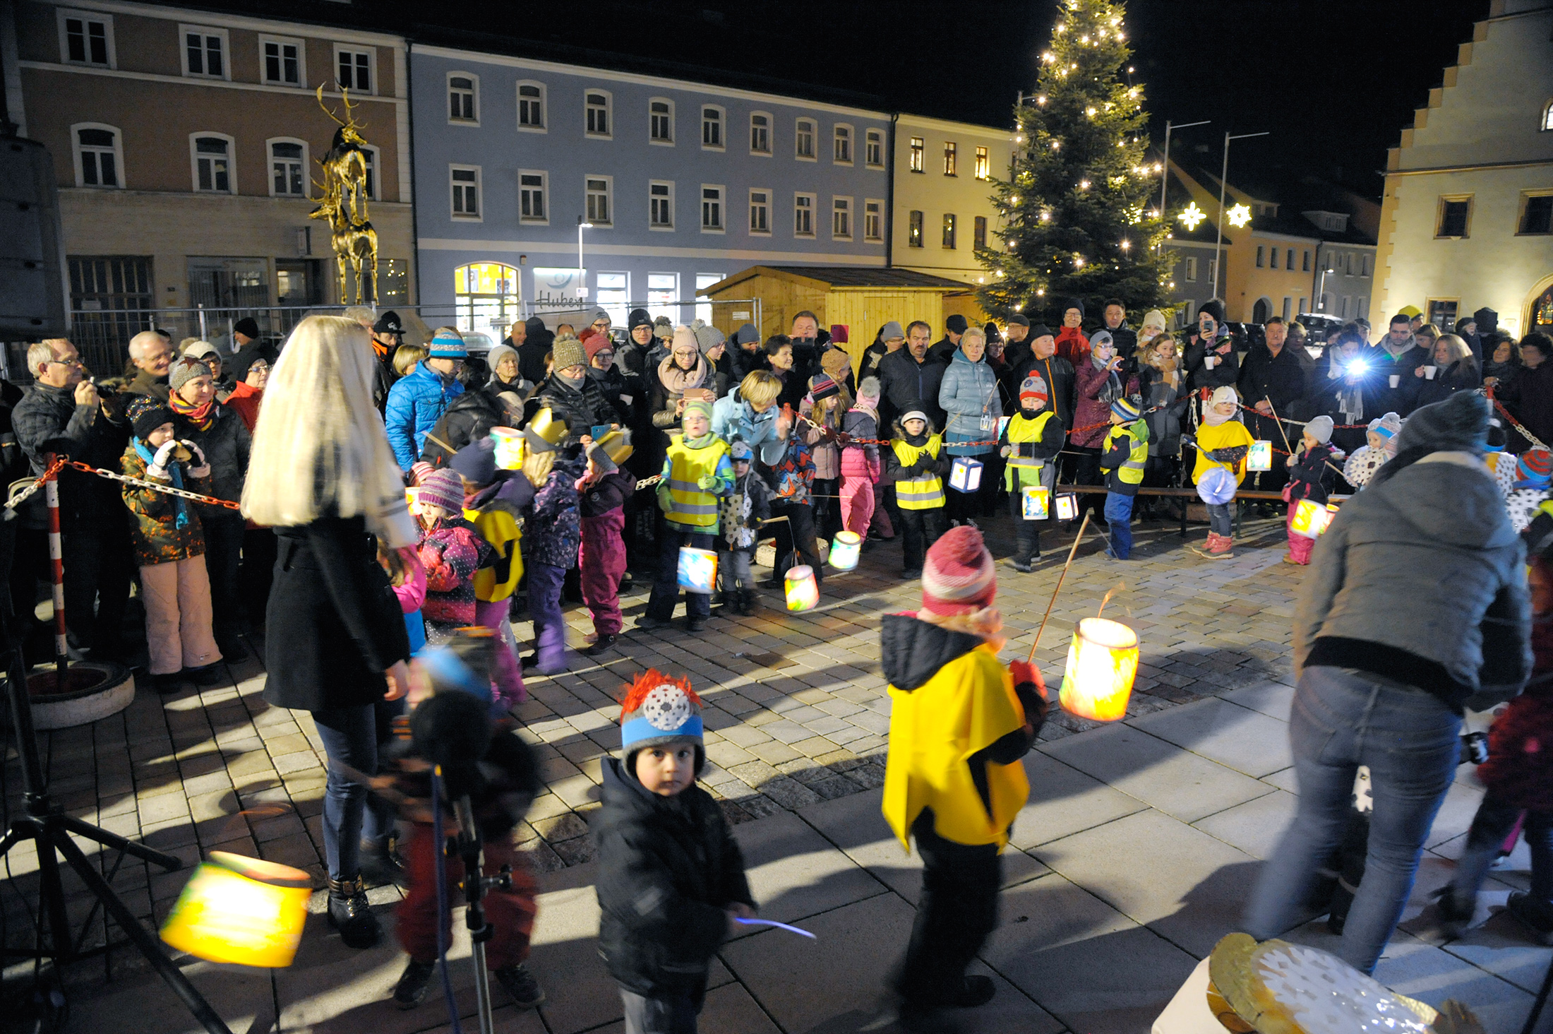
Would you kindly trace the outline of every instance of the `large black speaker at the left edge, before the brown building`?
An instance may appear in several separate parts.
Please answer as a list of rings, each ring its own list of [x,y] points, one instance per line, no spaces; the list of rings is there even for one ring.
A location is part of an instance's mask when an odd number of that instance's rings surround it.
[[[68,333],[62,241],[48,148],[0,137],[0,341]]]

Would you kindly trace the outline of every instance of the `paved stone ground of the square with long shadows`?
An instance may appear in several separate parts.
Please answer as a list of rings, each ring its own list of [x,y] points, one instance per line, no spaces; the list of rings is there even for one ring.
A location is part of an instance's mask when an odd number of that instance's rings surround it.
[[[1202,533],[1193,529],[1191,541]],[[1005,658],[1028,651],[1072,532],[1047,538],[1033,574],[999,561]],[[1228,561],[1188,552],[1174,526],[1137,526],[1135,538],[1134,560],[1118,563],[1101,555],[1101,535],[1089,533],[1036,651],[1054,693],[1075,622],[1103,602],[1107,616],[1141,638],[1127,718],[1095,728],[1053,711],[1027,759],[1031,804],[1005,855],[1003,925],[983,952],[1002,994],[964,1029],[1148,1029],[1196,959],[1233,928],[1255,860],[1272,851],[1292,813],[1297,787],[1284,720],[1300,569],[1280,563],[1281,521],[1247,524]],[[988,540],[1005,557],[1008,521],[989,522]],[[890,712],[879,617],[919,602],[919,586],[898,572],[899,547],[877,546],[856,571],[826,578],[818,610],[790,614],[780,592],[763,591],[758,616],[714,616],[696,638],[677,627],[632,631],[646,602],[641,585],[623,602],[627,633],[617,651],[572,655],[567,673],[528,681],[530,701],[516,714],[537,743],[548,793],[519,838],[544,874],[534,967],[551,1003],[539,1014],[505,1009],[499,1029],[620,1029],[618,1000],[590,945],[589,821],[598,809],[599,762],[618,749],[617,693],[649,665],[690,673],[704,697],[704,784],[738,824],[763,913],[822,933],[817,942],[776,931],[727,945],[702,1029],[849,1031],[871,1018],[871,997],[904,942],[919,885],[916,858],[895,844],[879,816]],[[570,610],[568,622],[572,645],[584,645],[585,610]],[[517,631],[523,638],[526,622]],[[162,698],[141,692],[113,718],[45,735],[59,802],[186,863],[221,849],[321,877],[323,749],[307,715],[261,700],[262,642],[253,645],[255,659],[230,665],[228,684]],[[14,810],[14,751],[5,771]],[[1463,768],[1437,821],[1415,906],[1379,975],[1426,1000],[1463,992],[1474,1008],[1486,1003],[1492,1034],[1510,1034],[1548,952],[1525,945],[1499,914],[1477,941],[1480,931],[1443,944],[1423,914],[1421,894],[1449,879],[1478,793]],[[104,861],[112,866],[113,857]],[[8,866],[5,938],[19,945],[31,938],[36,860],[19,849]],[[1525,885],[1514,860],[1499,875],[1488,905]],[[112,875],[130,908],[154,924],[186,879],[186,871],[148,871],[135,861]],[[79,922],[90,903],[75,877],[68,886]],[[373,891],[379,905],[396,897],[393,888]],[[312,908],[321,908],[321,894]],[[384,910],[391,925],[390,914]],[[87,939],[101,936],[98,919]],[[1311,927],[1298,936],[1322,942],[1325,934]],[[402,964],[387,941],[353,953],[315,919],[297,964],[280,975],[278,995],[252,970],[193,959],[183,966],[233,1029],[262,1031],[276,1017],[287,1031],[439,1029],[447,1018],[439,1004],[410,1014],[384,1006]],[[70,967],[82,1001],[73,1029],[143,1029],[130,1011],[140,1008],[157,1009],[163,1029],[188,1026],[137,959],[124,950],[112,959],[112,983],[104,983],[102,962]],[[467,966],[455,969],[461,975]],[[467,981],[460,987],[467,1008]]]

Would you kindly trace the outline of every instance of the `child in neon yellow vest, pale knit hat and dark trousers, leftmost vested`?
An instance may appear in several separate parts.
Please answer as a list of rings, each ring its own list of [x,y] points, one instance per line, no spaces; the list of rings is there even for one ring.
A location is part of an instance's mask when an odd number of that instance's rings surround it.
[[[717,496],[733,488],[728,443],[711,432],[711,403],[685,403],[680,435],[663,457],[658,482],[658,508],[663,510],[662,554],[648,610],[637,620],[640,628],[662,628],[679,602],[679,550],[682,546],[714,549],[717,536]],[[685,591],[685,630],[700,631],[711,616],[711,594]]]

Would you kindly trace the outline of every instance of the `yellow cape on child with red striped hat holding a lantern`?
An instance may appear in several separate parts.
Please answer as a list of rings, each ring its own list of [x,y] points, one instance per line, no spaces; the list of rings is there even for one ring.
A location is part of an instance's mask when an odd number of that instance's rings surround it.
[[[912,823],[933,809],[933,832],[957,844],[1008,844],[1008,827],[1025,807],[1030,781],[1020,762],[985,762],[991,813],[966,759],[1025,725],[1014,679],[983,642],[907,692],[890,687],[890,754],[884,818],[907,844]]]

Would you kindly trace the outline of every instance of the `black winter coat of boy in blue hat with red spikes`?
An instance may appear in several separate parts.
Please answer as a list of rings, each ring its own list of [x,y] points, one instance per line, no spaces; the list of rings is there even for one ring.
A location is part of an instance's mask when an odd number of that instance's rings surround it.
[[[601,776],[598,953],[638,995],[697,994],[728,931],[724,908],[755,906],[739,844],[722,809],[694,784],[662,798],[613,757]]]

